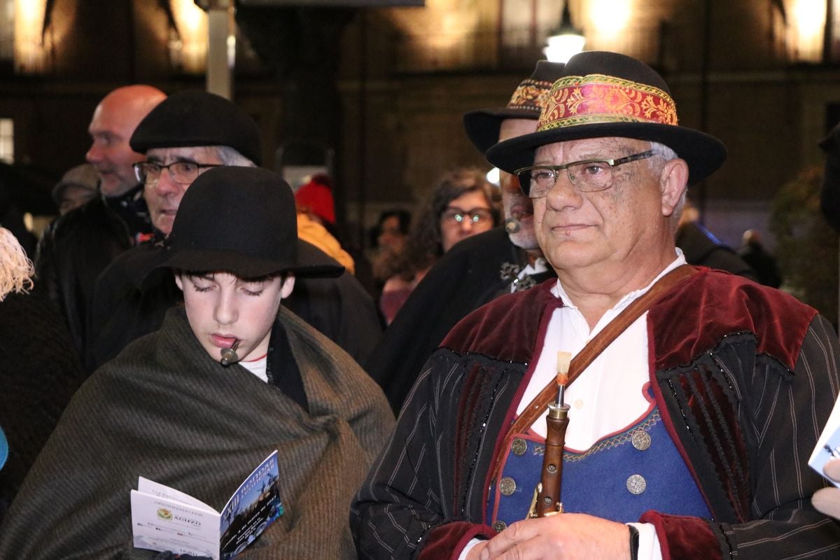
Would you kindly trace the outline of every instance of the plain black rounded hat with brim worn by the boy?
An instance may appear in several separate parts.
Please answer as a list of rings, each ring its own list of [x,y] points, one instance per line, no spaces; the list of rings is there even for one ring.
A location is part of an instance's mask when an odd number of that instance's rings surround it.
[[[214,167],[184,193],[164,249],[135,257],[145,280],[160,269],[225,270],[242,278],[283,272],[335,277],[344,267],[297,238],[291,187],[257,167]]]

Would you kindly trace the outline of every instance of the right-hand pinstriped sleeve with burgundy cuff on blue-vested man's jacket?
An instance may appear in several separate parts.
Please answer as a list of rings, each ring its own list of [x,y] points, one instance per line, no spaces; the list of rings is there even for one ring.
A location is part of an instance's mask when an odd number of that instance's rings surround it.
[[[807,466],[837,399],[838,359],[837,334],[816,316],[792,376],[780,375],[771,361],[761,359],[742,379],[733,376],[743,436],[751,449],[751,521],[710,521],[711,531],[695,531],[685,539],[679,536],[682,527],[696,520],[648,512],[643,519],[658,526],[664,558],[693,558],[686,553],[704,539],[717,540],[720,557],[727,559],[840,557],[840,525],[811,506],[811,495],[825,482]]]

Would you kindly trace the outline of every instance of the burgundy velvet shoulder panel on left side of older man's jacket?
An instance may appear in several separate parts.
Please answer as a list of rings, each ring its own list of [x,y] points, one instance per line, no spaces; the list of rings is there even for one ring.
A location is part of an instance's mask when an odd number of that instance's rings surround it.
[[[440,345],[456,353],[480,353],[505,362],[531,360],[544,307],[555,298],[546,280],[530,290],[497,297],[453,327]]]

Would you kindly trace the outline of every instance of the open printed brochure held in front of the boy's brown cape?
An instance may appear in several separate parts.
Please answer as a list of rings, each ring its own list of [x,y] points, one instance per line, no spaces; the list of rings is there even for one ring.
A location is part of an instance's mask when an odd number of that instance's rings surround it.
[[[131,491],[134,547],[229,560],[283,515],[278,476],[275,450],[239,484],[221,512],[139,477]]]

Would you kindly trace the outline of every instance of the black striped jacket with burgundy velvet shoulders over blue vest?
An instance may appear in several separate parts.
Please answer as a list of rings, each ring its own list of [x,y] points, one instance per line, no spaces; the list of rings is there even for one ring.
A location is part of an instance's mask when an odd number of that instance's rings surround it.
[[[433,353],[352,508],[360,557],[456,558],[495,535],[487,489],[562,305],[552,285],[480,308]],[[806,465],[840,386],[827,322],[780,291],[701,269],[651,307],[648,341],[657,405],[712,513],[645,513],[663,557],[837,557],[840,528],[811,508],[824,483]]]

